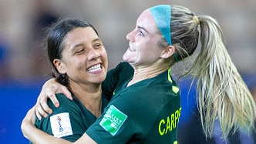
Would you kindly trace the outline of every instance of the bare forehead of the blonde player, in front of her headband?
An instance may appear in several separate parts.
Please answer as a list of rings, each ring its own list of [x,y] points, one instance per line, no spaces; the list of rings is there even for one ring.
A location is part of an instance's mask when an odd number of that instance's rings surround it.
[[[136,25],[147,29],[147,31],[149,32],[154,33],[158,31],[157,24],[154,21],[153,15],[151,14],[149,9],[145,10],[140,14],[139,18],[137,19]]]

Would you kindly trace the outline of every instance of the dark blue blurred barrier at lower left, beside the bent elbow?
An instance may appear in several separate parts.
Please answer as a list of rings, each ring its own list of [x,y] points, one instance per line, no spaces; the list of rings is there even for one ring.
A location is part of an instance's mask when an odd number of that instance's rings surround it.
[[[20,129],[26,112],[35,104],[42,82],[1,82],[0,143],[29,143]]]

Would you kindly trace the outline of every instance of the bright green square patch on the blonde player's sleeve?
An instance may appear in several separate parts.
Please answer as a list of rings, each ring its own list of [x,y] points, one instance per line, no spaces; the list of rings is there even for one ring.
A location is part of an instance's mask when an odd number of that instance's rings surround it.
[[[126,118],[126,114],[121,112],[114,105],[110,105],[103,119],[99,122],[99,125],[112,136],[115,136],[116,132],[118,132],[120,127],[123,125],[123,122],[126,121]]]

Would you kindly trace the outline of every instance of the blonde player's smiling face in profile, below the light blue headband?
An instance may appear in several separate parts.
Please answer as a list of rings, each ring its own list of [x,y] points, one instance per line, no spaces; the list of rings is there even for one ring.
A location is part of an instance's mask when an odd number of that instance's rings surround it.
[[[144,11],[137,19],[136,28],[126,39],[130,48],[123,55],[123,61],[131,65],[152,65],[160,59],[161,49],[158,45],[161,35],[150,10]]]

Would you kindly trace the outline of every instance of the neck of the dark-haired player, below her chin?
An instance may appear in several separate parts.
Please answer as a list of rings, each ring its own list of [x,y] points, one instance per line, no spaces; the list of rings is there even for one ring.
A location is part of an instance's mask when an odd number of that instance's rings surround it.
[[[70,88],[76,98],[79,99],[94,116],[98,118],[101,115],[102,89],[100,84],[78,85],[70,82]]]

